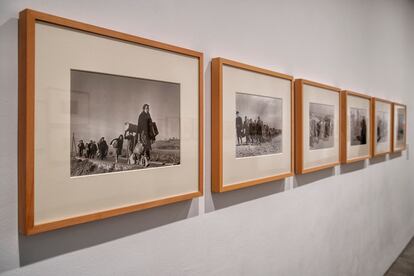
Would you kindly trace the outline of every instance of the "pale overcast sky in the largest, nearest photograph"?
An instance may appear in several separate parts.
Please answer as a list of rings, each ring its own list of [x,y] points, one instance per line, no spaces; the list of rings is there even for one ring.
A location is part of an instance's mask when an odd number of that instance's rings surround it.
[[[177,83],[71,70],[71,135],[109,142],[138,123],[144,104],[156,122],[157,140],[179,138],[180,85]]]

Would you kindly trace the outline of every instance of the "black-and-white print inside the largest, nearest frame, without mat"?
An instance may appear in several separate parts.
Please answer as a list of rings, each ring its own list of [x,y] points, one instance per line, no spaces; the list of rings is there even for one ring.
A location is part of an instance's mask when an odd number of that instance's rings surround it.
[[[71,70],[71,176],[180,164],[180,84]]]

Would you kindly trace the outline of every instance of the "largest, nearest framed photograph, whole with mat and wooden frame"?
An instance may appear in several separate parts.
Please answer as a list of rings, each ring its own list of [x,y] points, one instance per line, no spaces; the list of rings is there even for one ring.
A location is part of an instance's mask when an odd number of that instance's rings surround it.
[[[203,54],[24,10],[20,231],[203,194]]]

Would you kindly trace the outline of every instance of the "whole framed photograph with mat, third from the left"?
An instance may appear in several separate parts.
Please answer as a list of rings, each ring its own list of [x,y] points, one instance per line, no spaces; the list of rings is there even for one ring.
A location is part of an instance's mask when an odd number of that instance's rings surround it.
[[[295,80],[297,174],[339,164],[340,92],[325,84]]]

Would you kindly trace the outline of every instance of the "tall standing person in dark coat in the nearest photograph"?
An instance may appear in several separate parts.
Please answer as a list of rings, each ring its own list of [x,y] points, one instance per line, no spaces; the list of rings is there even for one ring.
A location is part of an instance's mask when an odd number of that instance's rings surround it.
[[[149,113],[149,105],[144,104],[138,117],[137,140],[144,147],[144,154],[150,159],[151,143],[155,139],[152,128],[152,119]],[[149,165],[149,163],[148,163]],[[147,165],[147,166],[148,166]]]

